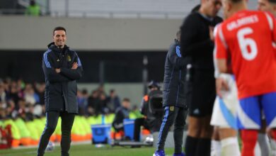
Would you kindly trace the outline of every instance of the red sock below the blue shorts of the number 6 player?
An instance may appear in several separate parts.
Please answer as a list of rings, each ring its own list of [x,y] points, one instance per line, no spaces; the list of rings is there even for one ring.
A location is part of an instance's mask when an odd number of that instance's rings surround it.
[[[254,148],[258,140],[258,130],[241,130],[243,148],[241,156],[254,156]]]

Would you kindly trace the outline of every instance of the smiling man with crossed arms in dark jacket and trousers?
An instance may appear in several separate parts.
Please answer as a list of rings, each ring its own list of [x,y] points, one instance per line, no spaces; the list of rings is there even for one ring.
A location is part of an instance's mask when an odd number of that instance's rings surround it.
[[[69,155],[71,143],[71,128],[75,114],[78,113],[76,103],[76,80],[81,78],[83,69],[81,61],[74,50],[67,45],[65,28],[57,27],[53,30],[53,43],[42,59],[45,74],[45,108],[46,126],[41,135],[38,146],[38,156],[44,155],[50,136],[57,126],[59,116],[62,118],[62,156]]]

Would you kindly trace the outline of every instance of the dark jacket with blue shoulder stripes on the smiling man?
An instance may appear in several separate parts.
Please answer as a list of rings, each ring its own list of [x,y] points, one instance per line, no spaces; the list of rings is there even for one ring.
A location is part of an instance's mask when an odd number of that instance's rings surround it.
[[[78,63],[77,69],[71,69],[74,62]],[[67,45],[63,50],[59,50],[57,46],[50,43],[43,55],[42,68],[46,84],[46,111],[78,113],[76,80],[81,78],[83,69],[76,52],[70,50]],[[55,72],[56,68],[60,68],[61,72]]]

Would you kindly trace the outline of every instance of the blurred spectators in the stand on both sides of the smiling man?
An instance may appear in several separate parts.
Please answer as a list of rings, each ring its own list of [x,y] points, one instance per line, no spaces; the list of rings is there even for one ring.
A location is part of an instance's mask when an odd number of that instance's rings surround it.
[[[44,82],[0,79],[0,120],[20,117],[24,121],[32,121],[33,118],[45,116],[44,91]],[[91,94],[86,89],[78,90],[77,99],[81,116],[115,113],[121,106],[115,89],[106,94],[103,85]],[[137,107],[133,109],[137,110]]]

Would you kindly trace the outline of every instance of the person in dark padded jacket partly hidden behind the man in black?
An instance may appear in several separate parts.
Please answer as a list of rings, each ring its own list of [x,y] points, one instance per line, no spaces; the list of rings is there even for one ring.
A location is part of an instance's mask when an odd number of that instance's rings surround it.
[[[175,143],[174,156],[183,156],[182,144],[187,106],[185,105],[184,81],[185,81],[185,60],[180,53],[180,31],[177,39],[168,50],[165,63],[163,80],[163,107],[165,110],[159,140],[154,156],[165,156],[164,145],[168,130],[174,123],[173,139]]]

